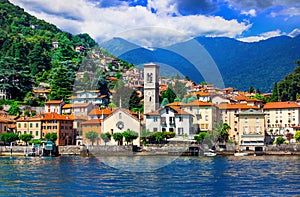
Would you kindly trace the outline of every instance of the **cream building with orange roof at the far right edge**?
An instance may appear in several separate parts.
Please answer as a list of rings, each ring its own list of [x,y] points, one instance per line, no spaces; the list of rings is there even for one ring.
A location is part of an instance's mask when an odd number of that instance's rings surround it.
[[[295,135],[295,129],[300,126],[300,105],[292,102],[270,102],[263,108],[266,114],[268,135],[272,139],[285,136],[287,133]]]

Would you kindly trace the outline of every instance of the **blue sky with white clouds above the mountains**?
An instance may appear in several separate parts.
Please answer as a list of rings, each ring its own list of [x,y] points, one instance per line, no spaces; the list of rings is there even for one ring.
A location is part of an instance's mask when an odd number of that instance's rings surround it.
[[[280,35],[294,37],[300,33],[300,0],[10,2],[63,31],[88,33],[98,43],[122,37],[134,38],[132,40],[139,42],[137,44],[153,47],[171,44],[178,35],[184,38],[230,37],[256,42]]]

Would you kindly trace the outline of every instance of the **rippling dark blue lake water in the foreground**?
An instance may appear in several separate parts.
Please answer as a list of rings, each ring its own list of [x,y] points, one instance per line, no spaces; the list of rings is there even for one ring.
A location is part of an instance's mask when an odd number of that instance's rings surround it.
[[[0,176],[0,196],[300,195],[299,156],[0,157]]]

